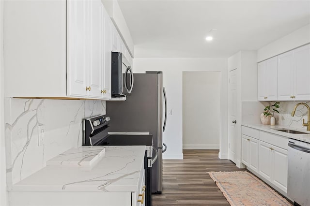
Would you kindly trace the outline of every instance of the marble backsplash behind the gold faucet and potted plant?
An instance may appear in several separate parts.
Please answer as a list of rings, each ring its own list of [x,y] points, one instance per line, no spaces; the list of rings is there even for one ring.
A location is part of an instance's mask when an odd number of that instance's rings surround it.
[[[274,102],[242,102],[242,123],[260,124],[260,114],[266,105]],[[307,130],[302,126],[302,119],[308,121],[308,110],[304,105],[297,107],[294,117],[291,116],[294,106],[301,102],[280,102],[279,114],[275,113],[276,125]],[[310,102],[303,102],[310,105]]]

